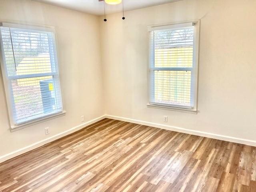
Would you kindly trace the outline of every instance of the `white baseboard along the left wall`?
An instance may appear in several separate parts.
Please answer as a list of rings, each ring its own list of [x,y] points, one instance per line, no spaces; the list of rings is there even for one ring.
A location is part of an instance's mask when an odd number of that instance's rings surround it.
[[[61,138],[61,137],[66,136],[66,135],[68,135],[68,134],[71,134],[71,133],[73,133],[73,132],[76,132],[76,131],[78,131],[78,130],[80,130],[80,129],[82,129],[82,128],[84,128],[84,127],[90,125],[90,124],[93,124],[93,123],[95,123],[95,122],[98,122],[98,121],[100,121],[100,120],[102,120],[102,119],[104,119],[104,118],[105,118],[104,115],[103,115],[103,116],[100,116],[100,117],[98,117],[98,118],[95,118],[95,119],[90,120],[90,121],[88,121],[88,122],[84,122],[84,123],[82,123],[82,124],[80,124],[80,125],[78,125],[78,126],[72,127],[72,128],[70,128],[70,129],[68,129],[68,130],[66,130],[66,131],[64,131],[64,132],[60,132],[60,133],[58,133],[58,134],[56,134],[56,135],[54,135],[54,136],[51,136],[51,137],[49,137],[49,138],[46,138],[46,139],[44,139],[44,140],[38,141],[38,142],[33,143],[33,144],[31,144],[31,145],[29,145],[29,146],[26,146],[26,147],[24,147],[24,148],[20,148],[20,149],[14,151],[14,152],[10,152],[10,153],[8,153],[8,154],[5,154],[5,155],[3,155],[3,156],[0,156],[0,163],[6,161],[6,160],[8,160],[8,159],[14,158],[14,157],[16,157],[16,156],[18,156],[18,155],[24,154],[24,153],[26,153],[26,152],[28,152],[28,151],[33,150],[33,149],[36,149],[36,148],[38,148],[38,147],[40,147],[40,146],[43,146],[43,145],[45,145],[45,144],[47,144],[47,143],[50,143],[50,142],[52,142],[52,141],[54,141],[54,140],[57,140],[57,139],[59,139],[59,138]]]

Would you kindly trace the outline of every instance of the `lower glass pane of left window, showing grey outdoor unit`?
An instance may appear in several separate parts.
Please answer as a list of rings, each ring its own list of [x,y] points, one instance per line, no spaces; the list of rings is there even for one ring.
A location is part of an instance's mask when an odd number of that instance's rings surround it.
[[[62,109],[58,78],[44,76],[11,80],[14,117],[21,123]]]

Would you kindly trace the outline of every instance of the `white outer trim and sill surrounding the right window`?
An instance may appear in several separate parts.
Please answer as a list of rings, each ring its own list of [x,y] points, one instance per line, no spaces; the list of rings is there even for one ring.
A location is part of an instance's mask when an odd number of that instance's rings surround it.
[[[151,86],[151,79],[150,79],[150,31],[153,30],[164,30],[164,29],[171,29],[171,28],[186,28],[188,26],[194,26],[194,52],[193,52],[193,73],[195,78],[192,78],[192,88],[194,90],[194,100],[193,107],[187,108],[184,106],[179,107],[178,105],[172,104],[159,104],[150,102],[150,86]],[[158,109],[165,109],[165,110],[173,110],[173,111],[180,111],[180,112],[188,112],[192,114],[197,114],[198,112],[198,58],[199,58],[199,41],[200,41],[200,20],[190,20],[190,21],[183,21],[183,22],[174,22],[168,24],[160,24],[160,25],[150,25],[148,26],[148,104],[147,107],[149,108],[158,108]],[[163,68],[161,68],[163,69]],[[183,68],[184,69],[184,68]],[[182,69],[182,70],[183,70]],[[170,70],[170,68],[168,68]],[[177,69],[176,69],[177,70]]]

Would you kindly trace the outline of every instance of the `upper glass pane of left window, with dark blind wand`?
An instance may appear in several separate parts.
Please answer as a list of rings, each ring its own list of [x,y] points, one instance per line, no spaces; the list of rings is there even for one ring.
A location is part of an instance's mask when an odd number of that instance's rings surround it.
[[[56,72],[52,33],[12,28],[1,33],[8,76]]]

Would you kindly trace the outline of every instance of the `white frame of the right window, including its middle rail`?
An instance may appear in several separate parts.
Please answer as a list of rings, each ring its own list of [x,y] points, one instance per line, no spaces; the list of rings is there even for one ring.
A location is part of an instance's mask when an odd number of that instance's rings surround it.
[[[184,68],[175,68],[175,67],[152,67],[154,66],[154,60],[152,60],[152,48],[154,49],[154,44],[151,43],[150,34],[152,31],[156,30],[167,30],[167,29],[175,29],[175,28],[186,28],[188,26],[194,26],[194,42],[193,42],[193,67],[184,67]],[[151,25],[148,26],[148,104],[147,106],[150,108],[160,108],[174,111],[184,111],[184,112],[192,112],[197,113],[197,104],[198,104],[198,58],[199,58],[199,41],[200,41],[200,20],[190,20],[184,22],[175,22],[169,24],[161,24],[161,25]],[[153,46],[153,47],[152,47]],[[154,52],[154,51],[153,51]],[[153,56],[154,57],[154,56]],[[153,62],[153,65],[152,65]],[[151,102],[152,96],[151,87],[154,87],[154,78],[151,78],[152,73],[154,74],[154,70],[172,70],[172,71],[191,71],[191,103],[190,106],[182,106],[178,104],[167,104],[167,103],[158,103]]]

